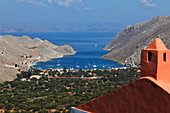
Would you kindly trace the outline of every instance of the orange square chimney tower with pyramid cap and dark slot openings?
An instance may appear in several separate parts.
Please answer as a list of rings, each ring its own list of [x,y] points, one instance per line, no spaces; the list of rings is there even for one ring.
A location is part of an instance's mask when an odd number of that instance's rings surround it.
[[[141,77],[148,76],[170,83],[170,50],[159,38],[141,52]]]

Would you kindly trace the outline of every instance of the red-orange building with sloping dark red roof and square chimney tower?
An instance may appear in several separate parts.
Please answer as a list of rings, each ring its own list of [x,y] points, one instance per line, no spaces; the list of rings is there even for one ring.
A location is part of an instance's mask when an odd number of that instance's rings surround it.
[[[141,78],[72,107],[71,113],[170,113],[170,50],[156,38],[141,53]]]

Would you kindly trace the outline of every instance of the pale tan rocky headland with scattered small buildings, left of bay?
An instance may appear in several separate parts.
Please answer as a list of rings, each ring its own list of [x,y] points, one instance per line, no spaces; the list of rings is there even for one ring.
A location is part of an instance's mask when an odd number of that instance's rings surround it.
[[[56,46],[39,38],[0,36],[0,82],[16,78],[16,73],[28,70],[35,62],[75,53],[68,45]]]

